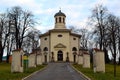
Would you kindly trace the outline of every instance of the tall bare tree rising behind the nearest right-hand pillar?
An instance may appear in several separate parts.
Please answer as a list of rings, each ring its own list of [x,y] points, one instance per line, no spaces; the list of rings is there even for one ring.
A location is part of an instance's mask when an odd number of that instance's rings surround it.
[[[103,50],[105,53],[105,62],[109,63],[109,57],[108,57],[108,42],[107,42],[107,27],[106,27],[106,20],[108,17],[108,10],[106,7],[103,5],[97,5],[93,10],[92,10],[92,16],[91,20],[92,23],[94,24],[95,28],[93,31],[94,40],[96,44],[99,44],[99,49]],[[96,45],[96,47],[98,47]]]

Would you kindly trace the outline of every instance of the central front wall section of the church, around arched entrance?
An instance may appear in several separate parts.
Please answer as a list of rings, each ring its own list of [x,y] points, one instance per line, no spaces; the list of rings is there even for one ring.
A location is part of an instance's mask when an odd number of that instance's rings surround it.
[[[58,35],[61,34],[62,37],[58,37]],[[59,50],[63,51],[63,61],[66,61],[66,53],[68,52],[70,54],[70,35],[69,32],[51,32],[51,52],[54,52],[54,58],[55,61],[57,61],[57,53]],[[57,44],[63,44],[66,46],[66,48],[54,48]],[[69,56],[70,57],[70,56]]]

